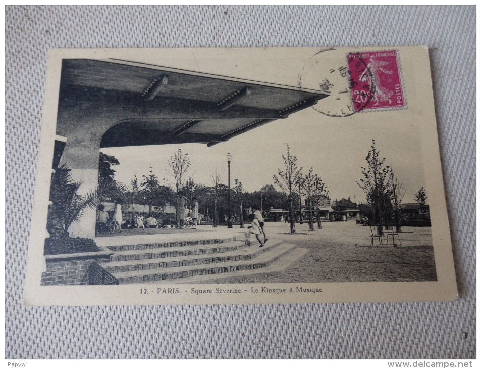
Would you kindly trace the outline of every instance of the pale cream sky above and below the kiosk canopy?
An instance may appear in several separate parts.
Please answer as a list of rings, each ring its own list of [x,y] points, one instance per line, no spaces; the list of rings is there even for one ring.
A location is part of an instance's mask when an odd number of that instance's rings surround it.
[[[172,49],[168,54],[152,50],[124,59],[290,86],[302,84],[303,88],[318,89],[318,82],[323,81],[324,76],[333,81],[331,71],[334,66],[345,64],[344,51],[325,50],[312,55],[310,49],[293,48],[290,49],[291,54],[286,55],[284,49],[275,48],[248,51],[235,48]],[[162,182],[166,178],[166,162],[180,148],[189,154],[192,164],[190,175],[196,182],[206,185],[211,185],[211,176],[216,170],[223,183],[227,184],[226,155],[231,153],[232,183],[234,178],[238,178],[244,188],[252,192],[265,184],[273,184],[272,176],[277,174],[278,168],[283,168],[282,155],[286,153],[286,144],[289,144],[291,154],[298,158],[299,167],[304,171],[313,167],[326,183],[332,200],[350,196],[351,200],[355,198],[359,203],[365,201],[365,194],[356,182],[362,176],[361,166],[366,165],[365,157],[371,141],[376,140],[376,148],[386,158],[386,165],[394,169],[406,188],[404,202],[414,202],[414,194],[421,187],[426,189],[422,163],[427,160],[427,151],[432,148],[423,146],[422,140],[427,127],[435,121],[425,107],[429,96],[419,95],[426,91],[426,80],[421,78],[417,67],[411,65],[415,59],[409,58],[410,49],[403,50],[403,53],[406,57],[401,61],[410,71],[403,76],[406,109],[373,109],[347,117],[331,117],[321,113],[339,104],[338,97],[341,95],[331,94],[314,107],[210,148],[205,144],[183,144],[108,148],[102,149],[102,152],[120,161],[121,164],[114,167],[116,179],[130,184],[136,173],[139,179],[148,174],[150,165]],[[345,83],[344,79],[341,82]],[[347,94],[345,96],[348,97]],[[429,203],[430,189],[426,191]]]

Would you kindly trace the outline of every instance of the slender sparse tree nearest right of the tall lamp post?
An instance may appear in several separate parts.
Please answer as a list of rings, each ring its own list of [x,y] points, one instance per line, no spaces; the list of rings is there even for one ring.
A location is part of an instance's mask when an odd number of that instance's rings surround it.
[[[287,147],[287,155],[283,155],[285,170],[278,169],[278,175],[273,175],[274,183],[281,188],[289,199],[289,221],[290,233],[296,233],[296,225],[294,223],[294,208],[292,204],[292,192],[294,187],[299,183],[299,176],[302,168],[297,167],[297,157],[291,155],[289,145]]]

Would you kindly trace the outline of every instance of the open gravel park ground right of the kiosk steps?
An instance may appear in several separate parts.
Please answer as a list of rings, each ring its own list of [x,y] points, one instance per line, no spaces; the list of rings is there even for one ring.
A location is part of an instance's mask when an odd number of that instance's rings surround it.
[[[370,247],[368,226],[355,222],[322,223],[309,231],[307,223],[296,224],[289,234],[287,223],[265,223],[269,239],[282,239],[309,251],[282,272],[228,277],[224,283],[293,282],[409,282],[436,281],[431,227],[403,227],[401,244],[392,239],[384,247]],[[269,241],[268,241],[269,243]],[[377,240],[375,240],[376,246]],[[399,244],[395,237],[395,243]],[[377,244],[379,246],[379,243]],[[219,281],[220,282],[220,281]]]

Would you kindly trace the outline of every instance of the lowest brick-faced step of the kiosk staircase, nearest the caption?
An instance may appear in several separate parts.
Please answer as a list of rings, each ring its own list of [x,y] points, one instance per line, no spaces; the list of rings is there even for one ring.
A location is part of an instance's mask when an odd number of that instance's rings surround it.
[[[120,284],[129,284],[171,280],[175,278],[189,278],[196,275],[228,273],[239,270],[254,270],[270,265],[295,248],[296,245],[293,244],[280,244],[259,255],[254,260],[219,262],[210,267],[205,267],[205,265],[178,266],[168,269],[157,268],[117,272],[112,274],[119,280]]]

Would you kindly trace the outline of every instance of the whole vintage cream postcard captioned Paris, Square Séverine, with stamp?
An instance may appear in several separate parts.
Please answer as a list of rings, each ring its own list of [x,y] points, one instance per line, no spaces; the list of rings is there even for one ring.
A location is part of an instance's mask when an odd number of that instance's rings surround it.
[[[427,48],[50,51],[25,304],[457,296]]]

